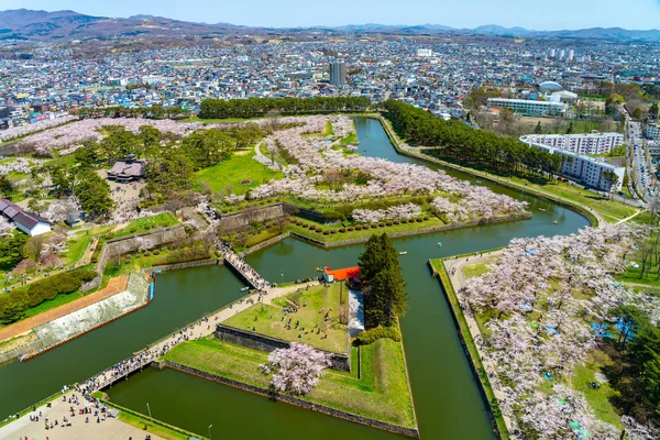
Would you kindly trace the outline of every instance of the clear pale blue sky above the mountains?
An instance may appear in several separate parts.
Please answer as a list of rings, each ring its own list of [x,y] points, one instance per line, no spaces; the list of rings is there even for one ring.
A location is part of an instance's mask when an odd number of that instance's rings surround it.
[[[0,0],[0,9],[289,28],[343,24],[499,24],[537,31],[660,29],[660,0]]]

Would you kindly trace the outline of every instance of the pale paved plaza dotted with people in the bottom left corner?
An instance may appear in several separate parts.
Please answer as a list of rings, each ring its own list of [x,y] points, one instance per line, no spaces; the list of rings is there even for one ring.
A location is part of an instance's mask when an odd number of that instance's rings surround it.
[[[68,399],[73,395],[78,397],[79,404],[68,403]],[[67,402],[63,402],[62,397],[57,398],[52,403],[52,408],[47,408],[44,404],[36,408],[36,411],[26,414],[20,419],[12,421],[9,425],[0,428],[0,439],[19,440],[28,438],[29,440],[127,440],[132,438],[133,440],[143,440],[148,431],[132,427],[131,425],[124,424],[116,418],[108,417],[106,420],[97,422],[97,418],[91,415],[79,415],[78,409],[85,408],[85,405],[89,405],[94,408],[94,405],[85,402],[80,393],[67,393],[64,395]],[[76,415],[72,417],[69,411],[70,407],[74,407]],[[111,409],[111,408],[110,408]],[[30,416],[38,415],[42,413],[42,417],[38,421],[31,421]],[[45,418],[48,417],[48,422],[55,424],[58,421],[58,426],[53,429],[45,429]],[[72,426],[62,427],[62,420],[66,417]],[[85,422],[85,418],[89,417],[89,422]],[[161,437],[151,435],[153,440],[160,440]]]

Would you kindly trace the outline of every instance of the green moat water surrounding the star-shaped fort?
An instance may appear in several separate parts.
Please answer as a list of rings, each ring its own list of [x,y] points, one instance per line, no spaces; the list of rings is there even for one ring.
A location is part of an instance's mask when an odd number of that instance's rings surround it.
[[[393,162],[424,162],[400,156],[380,122],[355,119],[360,153]],[[469,176],[449,172],[470,179]],[[483,185],[483,184],[480,184]],[[400,263],[408,283],[409,310],[402,321],[406,360],[420,435],[427,439],[494,438],[486,407],[460,344],[449,306],[429,258],[506,245],[516,237],[570,234],[588,224],[556,204],[487,185],[496,193],[528,201],[532,219],[396,239],[407,251]],[[539,211],[539,208],[544,211]],[[553,224],[553,220],[558,224]],[[442,248],[437,246],[442,242]],[[266,279],[315,276],[317,266],[356,263],[362,245],[323,250],[287,239],[246,257]],[[228,268],[206,266],[157,278],[152,305],[26,363],[0,369],[0,419],[128,358],[146,344],[242,296],[243,284]],[[338,420],[175,371],[146,369],[108,391],[119,405],[218,438],[385,439],[396,436]]]

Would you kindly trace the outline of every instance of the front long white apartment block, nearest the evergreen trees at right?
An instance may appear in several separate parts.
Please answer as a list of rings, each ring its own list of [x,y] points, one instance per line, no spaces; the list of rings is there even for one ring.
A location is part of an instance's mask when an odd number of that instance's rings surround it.
[[[561,168],[563,175],[574,177],[586,186],[603,191],[618,191],[622,189],[624,175],[626,174],[625,167],[613,165],[602,158],[584,156],[568,150],[532,142],[529,138],[530,136],[521,136],[520,141],[529,146],[543,150],[550,154],[559,154],[564,158]],[[617,176],[616,185],[609,186],[608,179],[603,176],[603,173],[605,172],[613,172]]]

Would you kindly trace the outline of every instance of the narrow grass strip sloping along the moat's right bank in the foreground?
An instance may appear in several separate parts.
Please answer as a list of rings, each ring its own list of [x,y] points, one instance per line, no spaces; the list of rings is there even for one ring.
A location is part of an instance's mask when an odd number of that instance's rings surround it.
[[[470,353],[470,358],[472,359],[472,362],[475,365],[480,382],[482,384],[482,388],[486,395],[486,398],[488,399],[488,405],[491,406],[492,414],[495,418],[497,430],[499,431],[502,439],[507,440],[509,439],[508,429],[506,428],[506,424],[504,422],[504,417],[502,416],[502,413],[499,410],[499,405],[497,404],[497,399],[495,398],[495,393],[493,391],[493,386],[491,385],[491,381],[488,380],[486,370],[484,369],[484,365],[481,361],[481,356],[479,355],[479,351],[476,350],[476,344],[472,339],[470,327],[468,326],[468,321],[465,320],[463,311],[461,310],[461,307],[459,305],[459,300],[453,289],[453,285],[451,284],[451,280],[449,279],[449,274],[444,268],[443,258],[429,260],[429,263],[431,264],[431,267],[433,267],[433,270],[438,273],[442,286],[444,287],[447,300],[451,306],[453,316],[459,324],[459,330],[464,342],[464,348],[468,350],[468,353]]]

